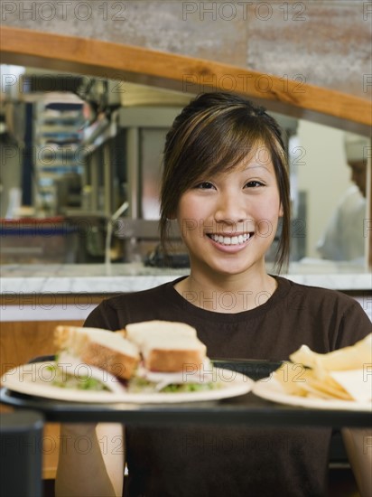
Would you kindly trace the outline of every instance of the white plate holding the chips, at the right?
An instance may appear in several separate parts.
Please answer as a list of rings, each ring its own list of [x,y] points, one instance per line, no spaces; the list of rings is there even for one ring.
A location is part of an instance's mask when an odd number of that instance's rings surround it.
[[[274,402],[279,402],[280,404],[289,404],[291,406],[301,406],[302,408],[372,411],[371,402],[357,402],[353,400],[338,399],[315,399],[313,397],[290,395],[284,391],[282,385],[273,377],[256,381],[252,391],[255,395],[261,397],[262,399],[272,400]]]

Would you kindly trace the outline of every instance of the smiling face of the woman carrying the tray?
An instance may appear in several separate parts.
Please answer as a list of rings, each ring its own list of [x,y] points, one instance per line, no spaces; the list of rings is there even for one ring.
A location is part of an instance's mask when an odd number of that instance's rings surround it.
[[[217,276],[265,270],[265,252],[283,215],[274,165],[261,146],[233,170],[200,181],[177,210],[191,270]]]

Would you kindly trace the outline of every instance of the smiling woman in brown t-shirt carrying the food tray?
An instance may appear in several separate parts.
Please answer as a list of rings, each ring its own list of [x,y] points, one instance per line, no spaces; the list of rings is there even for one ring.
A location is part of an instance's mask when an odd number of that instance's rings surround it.
[[[175,118],[163,155],[161,239],[168,239],[169,220],[177,220],[190,275],[109,298],[85,325],[115,331],[153,319],[181,321],[197,329],[211,359],[285,361],[302,344],[325,353],[358,342],[372,324],[357,301],[266,272],[280,217],[279,270],[288,261],[289,192],[274,118],[237,95],[201,94]],[[344,434],[367,497],[371,452],[363,452],[363,441],[370,433]],[[328,493],[328,427],[86,423],[62,425],[60,436],[66,444],[60,445],[57,497],[122,495],[125,460],[126,497]],[[81,436],[90,440],[88,452],[78,450]]]

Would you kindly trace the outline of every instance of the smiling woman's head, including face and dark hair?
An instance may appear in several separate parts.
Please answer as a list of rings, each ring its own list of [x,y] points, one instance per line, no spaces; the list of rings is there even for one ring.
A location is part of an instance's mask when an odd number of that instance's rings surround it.
[[[264,108],[228,93],[196,98],[175,119],[163,163],[160,228],[164,249],[168,220],[176,217],[191,258],[194,239],[207,250],[212,246],[214,257],[222,252],[236,254],[249,244],[250,252],[259,249],[260,255],[253,257],[263,264],[278,217],[283,215],[279,270],[287,262],[287,161],[280,128]],[[195,224],[199,230],[191,230]],[[235,239],[239,236],[241,242]],[[208,240],[212,242],[205,244]],[[208,252],[200,253],[209,258]],[[241,257],[246,258],[246,252]]]

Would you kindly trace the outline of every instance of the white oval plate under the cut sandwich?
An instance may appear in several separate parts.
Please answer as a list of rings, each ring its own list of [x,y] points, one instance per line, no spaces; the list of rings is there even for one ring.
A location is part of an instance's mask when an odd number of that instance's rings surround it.
[[[51,384],[52,372],[49,367],[54,361],[23,364],[7,371],[2,385],[14,392],[42,397],[44,399],[67,400],[70,402],[115,403],[128,402],[135,404],[163,404],[181,402],[200,402],[205,400],[228,399],[249,392],[254,381],[236,371],[215,368],[213,379],[222,383],[222,388],[181,393],[113,393],[110,391],[89,391],[81,389],[61,389]]]

